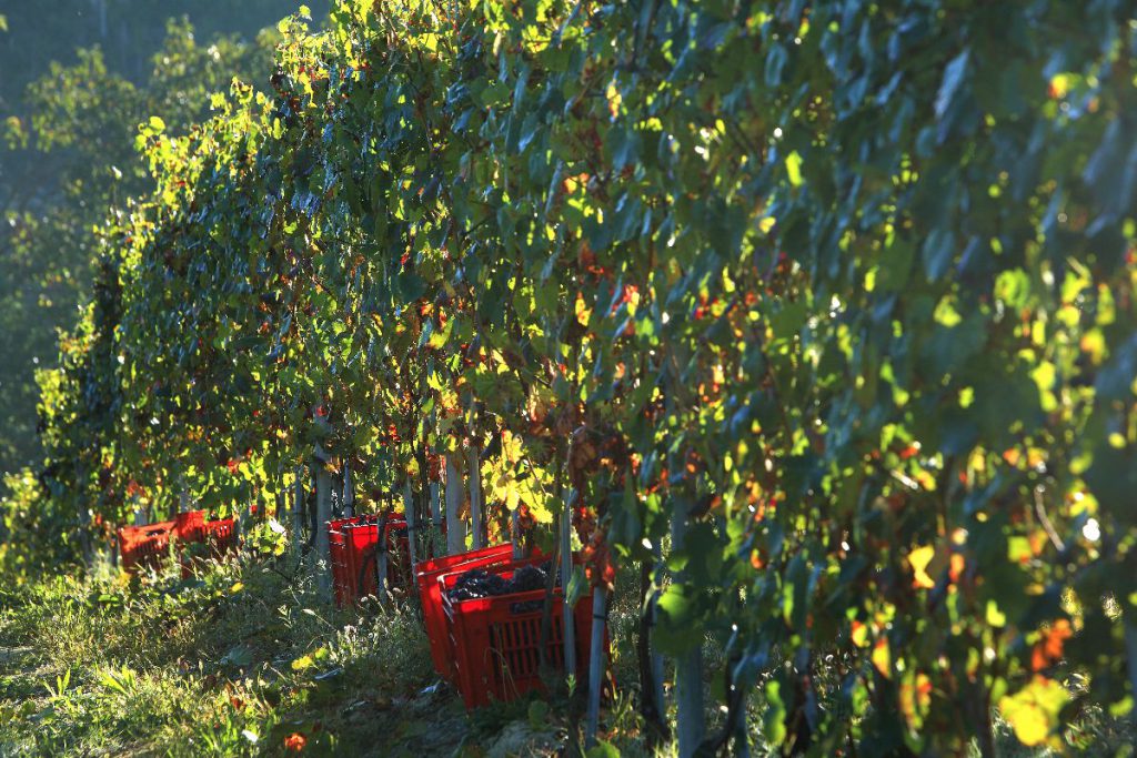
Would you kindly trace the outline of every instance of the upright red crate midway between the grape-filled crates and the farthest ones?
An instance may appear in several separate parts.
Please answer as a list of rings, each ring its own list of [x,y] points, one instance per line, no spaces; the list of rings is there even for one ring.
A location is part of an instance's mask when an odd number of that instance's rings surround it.
[[[327,522],[332,592],[340,607],[375,594],[379,590],[374,566],[377,560],[379,520],[379,516],[370,515]],[[401,516],[389,516],[384,535],[388,547],[387,582],[389,586],[395,586],[405,583],[410,565],[406,520]]]

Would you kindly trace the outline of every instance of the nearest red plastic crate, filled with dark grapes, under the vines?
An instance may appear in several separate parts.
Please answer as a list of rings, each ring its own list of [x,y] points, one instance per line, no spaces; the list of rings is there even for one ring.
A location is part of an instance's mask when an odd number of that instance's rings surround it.
[[[530,559],[523,563],[534,563]],[[513,576],[517,565],[495,569],[504,578]],[[517,592],[476,600],[451,601],[447,591],[459,573],[439,578],[442,608],[449,622],[454,653],[455,684],[467,709],[487,706],[491,700],[512,700],[530,690],[543,689],[540,676],[540,641],[543,608],[515,609],[515,606],[545,600],[545,590]],[[554,590],[549,613],[546,660],[564,670],[564,603],[561,588]],[[592,635],[592,593],[581,597],[573,608],[576,644],[576,678],[588,680]],[[607,635],[605,635],[607,638]]]

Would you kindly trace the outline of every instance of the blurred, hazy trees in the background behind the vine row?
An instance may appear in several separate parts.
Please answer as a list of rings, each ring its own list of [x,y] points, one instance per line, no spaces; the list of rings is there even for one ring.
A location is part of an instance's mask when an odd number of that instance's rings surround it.
[[[326,13],[326,1],[307,5]],[[91,294],[92,228],[151,186],[139,124],[158,116],[182,133],[234,76],[266,86],[275,24],[296,9],[0,0],[0,497],[15,472],[41,465],[36,372],[57,365],[58,332]]]

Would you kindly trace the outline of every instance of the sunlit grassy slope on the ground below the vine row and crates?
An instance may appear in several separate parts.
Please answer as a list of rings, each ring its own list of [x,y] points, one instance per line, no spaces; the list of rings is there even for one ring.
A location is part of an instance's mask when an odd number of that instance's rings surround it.
[[[0,590],[0,756],[285,755],[301,742],[306,755],[416,758],[564,749],[563,694],[467,716],[435,686],[413,603],[339,611],[309,576],[288,573],[222,565],[188,581],[171,572],[127,583],[106,569]],[[613,638],[633,639],[631,592],[617,593],[612,617]],[[615,644],[613,655],[624,691],[606,710],[605,736],[644,755],[626,691],[634,653]],[[707,663],[721,663],[713,648]],[[757,734],[762,703],[750,705]],[[1071,725],[1068,740],[1114,755],[1132,734],[1098,717]],[[1001,755],[1045,755],[1005,728],[999,736]]]

